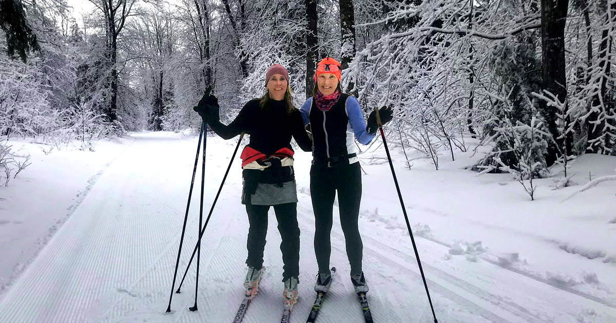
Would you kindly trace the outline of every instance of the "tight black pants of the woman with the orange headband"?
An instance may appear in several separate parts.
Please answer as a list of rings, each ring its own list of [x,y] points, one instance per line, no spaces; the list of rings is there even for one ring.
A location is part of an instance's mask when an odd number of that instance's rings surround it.
[[[338,190],[340,225],[346,241],[347,257],[351,263],[351,274],[362,272],[362,237],[359,235],[357,218],[362,199],[362,173],[359,162],[337,167],[312,165],[310,169],[310,196],[316,222],[314,252],[317,255],[318,270],[330,271],[331,225],[334,197]]]

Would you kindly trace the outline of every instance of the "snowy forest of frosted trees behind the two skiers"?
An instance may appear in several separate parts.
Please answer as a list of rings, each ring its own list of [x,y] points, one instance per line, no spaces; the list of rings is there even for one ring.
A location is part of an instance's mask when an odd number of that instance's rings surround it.
[[[616,1],[82,1],[92,10],[79,19],[64,0],[0,1],[5,139],[88,150],[128,131],[199,129],[208,84],[229,120],[261,97],[272,63],[299,106],[330,56],[365,112],[394,108],[392,144],[436,169],[471,137],[493,146],[476,170],[520,180],[616,155]]]

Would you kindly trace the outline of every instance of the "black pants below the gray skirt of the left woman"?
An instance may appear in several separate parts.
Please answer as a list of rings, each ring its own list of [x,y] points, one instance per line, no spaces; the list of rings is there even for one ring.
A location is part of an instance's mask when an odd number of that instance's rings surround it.
[[[267,212],[270,205],[246,205],[248,221],[248,259],[246,265],[254,268],[263,266],[263,250],[267,235]],[[282,237],[280,251],[285,264],[283,281],[290,277],[299,277],[299,226],[297,203],[274,205],[278,231]]]

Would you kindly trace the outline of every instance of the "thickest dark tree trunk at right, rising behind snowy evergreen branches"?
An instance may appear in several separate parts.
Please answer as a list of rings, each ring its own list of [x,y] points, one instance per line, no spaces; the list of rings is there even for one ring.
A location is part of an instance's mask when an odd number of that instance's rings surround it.
[[[565,76],[565,20],[568,0],[541,0],[541,58],[543,68],[543,89],[554,94],[559,101],[567,100],[567,79]],[[566,102],[565,102],[566,104]],[[556,140],[556,145],[562,147],[562,139],[556,121],[558,109],[545,105],[543,116],[549,133]],[[566,111],[566,108],[565,108]],[[558,147],[554,143],[548,146],[546,164],[554,164],[557,159]],[[569,152],[567,152],[569,153]]]

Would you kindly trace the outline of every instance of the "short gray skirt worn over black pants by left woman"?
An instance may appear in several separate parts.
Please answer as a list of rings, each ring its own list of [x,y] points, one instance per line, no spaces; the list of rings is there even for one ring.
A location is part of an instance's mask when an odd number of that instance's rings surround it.
[[[245,189],[241,192],[241,204],[277,205],[297,202],[298,190],[295,180],[282,183],[282,187],[276,184],[259,183],[257,190],[250,196],[246,196]]]

